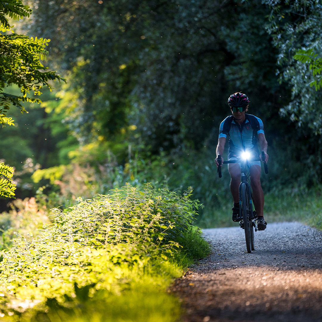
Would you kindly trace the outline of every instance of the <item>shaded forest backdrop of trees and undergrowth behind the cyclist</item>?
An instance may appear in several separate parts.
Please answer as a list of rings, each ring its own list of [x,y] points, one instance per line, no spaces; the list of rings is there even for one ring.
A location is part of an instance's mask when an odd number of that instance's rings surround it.
[[[265,192],[319,190],[321,78],[312,65],[322,53],[321,1],[24,3],[33,14],[15,31],[51,39],[44,64],[66,83],[25,104],[29,113],[10,109],[15,126],[1,129],[17,198],[67,207],[151,182],[192,186],[209,216],[227,200],[214,159],[236,91],[264,122]],[[310,50],[307,61],[296,59],[300,50]]]

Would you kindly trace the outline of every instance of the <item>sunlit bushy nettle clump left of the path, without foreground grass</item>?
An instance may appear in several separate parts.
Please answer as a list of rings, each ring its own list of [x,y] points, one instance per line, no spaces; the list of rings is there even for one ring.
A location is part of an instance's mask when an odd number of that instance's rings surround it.
[[[40,235],[18,235],[2,252],[0,309],[10,311],[18,301],[23,310],[52,298],[66,305],[80,289],[86,296],[101,289],[117,294],[134,272],[162,274],[166,263],[178,261],[181,241],[194,228],[198,203],[191,194],[191,188],[179,196],[127,184],[110,195],[78,199],[68,211],[53,209],[52,224]]]

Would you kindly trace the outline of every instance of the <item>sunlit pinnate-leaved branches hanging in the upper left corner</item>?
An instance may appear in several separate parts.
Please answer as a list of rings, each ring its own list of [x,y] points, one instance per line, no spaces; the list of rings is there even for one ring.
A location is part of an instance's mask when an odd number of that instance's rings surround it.
[[[26,111],[23,102],[40,103],[37,98],[41,95],[43,86],[51,89],[49,81],[62,80],[54,71],[46,71],[40,60],[46,59],[45,49],[50,39],[8,34],[11,25],[6,16],[14,20],[29,17],[31,9],[22,1],[0,2],[0,124],[11,125],[12,119],[6,117],[11,105],[17,106],[22,112]],[[4,90],[8,86],[17,85],[21,95],[12,95]],[[29,94],[33,96],[29,96]]]

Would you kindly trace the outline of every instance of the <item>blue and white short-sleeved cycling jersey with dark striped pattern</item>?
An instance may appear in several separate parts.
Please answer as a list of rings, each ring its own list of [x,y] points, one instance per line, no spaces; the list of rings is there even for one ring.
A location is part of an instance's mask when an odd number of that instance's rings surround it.
[[[264,134],[263,122],[260,118],[245,114],[242,125],[234,121],[234,117],[228,116],[221,122],[219,138],[229,136],[228,156],[239,156],[242,151],[253,150],[258,153],[257,135]]]

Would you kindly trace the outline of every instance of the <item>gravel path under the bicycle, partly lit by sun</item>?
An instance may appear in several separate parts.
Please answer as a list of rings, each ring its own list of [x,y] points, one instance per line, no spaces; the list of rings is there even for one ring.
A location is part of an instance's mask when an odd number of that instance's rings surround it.
[[[182,322],[322,321],[322,232],[271,223],[247,253],[238,227],[205,229],[212,253],[172,287]]]

